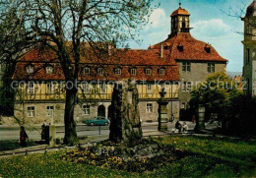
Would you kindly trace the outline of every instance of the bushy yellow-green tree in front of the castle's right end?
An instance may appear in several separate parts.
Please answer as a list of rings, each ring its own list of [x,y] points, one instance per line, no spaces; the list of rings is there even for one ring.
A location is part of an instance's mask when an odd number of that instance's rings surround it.
[[[218,119],[226,122],[226,118],[232,105],[232,98],[242,92],[239,84],[232,82],[224,73],[216,73],[208,76],[206,82],[201,83],[191,91],[190,105],[195,110],[199,103],[199,96],[203,96],[206,107],[206,119],[217,113]]]

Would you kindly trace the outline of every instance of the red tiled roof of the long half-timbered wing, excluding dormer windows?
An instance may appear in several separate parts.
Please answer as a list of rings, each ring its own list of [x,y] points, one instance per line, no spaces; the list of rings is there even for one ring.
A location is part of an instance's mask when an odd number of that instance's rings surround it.
[[[45,63],[46,61],[46,63]],[[53,74],[46,74],[45,67],[51,64],[54,67]],[[29,76],[26,66],[31,64],[36,71]],[[84,67],[91,68],[90,75],[81,75],[79,80],[85,81],[117,81],[121,79],[134,79],[137,81],[178,81],[178,66],[174,60],[160,58],[160,50],[115,50],[113,55],[104,59],[98,59],[92,52],[81,56],[81,71]],[[98,75],[96,69],[102,67],[104,75]],[[114,69],[121,68],[121,75],[115,75]],[[137,69],[137,74],[131,76],[129,70]],[[146,75],[146,68],[152,69],[152,75]],[[165,69],[164,75],[159,74],[160,68]],[[42,54],[38,49],[32,49],[24,55],[17,63],[16,72],[13,76],[16,80],[64,80],[64,75],[60,63],[58,63],[52,51],[44,51]]]

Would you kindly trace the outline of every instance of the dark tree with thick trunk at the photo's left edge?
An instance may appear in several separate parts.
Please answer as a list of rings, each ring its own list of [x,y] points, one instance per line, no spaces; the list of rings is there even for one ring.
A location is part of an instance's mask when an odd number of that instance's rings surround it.
[[[25,35],[24,22],[17,17],[15,9],[10,9],[0,18],[0,62],[1,62],[1,114],[12,115],[14,110],[14,93],[10,88],[16,61],[23,55],[29,45],[29,36]],[[19,50],[17,50],[19,49]]]

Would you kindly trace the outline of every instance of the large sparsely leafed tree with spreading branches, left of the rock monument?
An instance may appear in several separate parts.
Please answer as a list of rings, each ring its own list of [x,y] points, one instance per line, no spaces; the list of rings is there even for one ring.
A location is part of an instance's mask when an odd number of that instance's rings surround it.
[[[86,44],[99,60],[107,56],[102,42],[114,39],[119,45],[136,38],[148,22],[153,0],[13,0],[10,7],[2,3],[1,14],[16,10],[25,23],[31,43],[55,52],[66,84],[75,84],[79,77],[80,60]],[[68,43],[70,42],[70,43]],[[69,44],[69,45],[68,45]],[[68,86],[65,102],[65,144],[77,139],[74,107],[78,89]]]

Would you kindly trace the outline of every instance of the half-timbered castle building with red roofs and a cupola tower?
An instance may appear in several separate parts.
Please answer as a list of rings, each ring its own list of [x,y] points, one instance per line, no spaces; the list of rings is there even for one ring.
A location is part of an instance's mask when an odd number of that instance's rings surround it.
[[[108,57],[102,60],[90,52],[90,47],[83,47],[86,52],[81,56],[77,84],[80,102],[75,107],[78,122],[98,115],[108,118],[113,84],[127,79],[137,82],[142,121],[158,120],[162,86],[169,102],[167,115],[178,119],[180,109],[188,107],[193,86],[209,74],[225,73],[227,61],[213,46],[191,36],[190,14],[179,7],[170,18],[167,39],[148,49],[109,47]],[[53,123],[63,122],[65,80],[52,51],[33,48],[17,63],[13,79],[19,90],[16,117],[33,123],[45,118]]]

